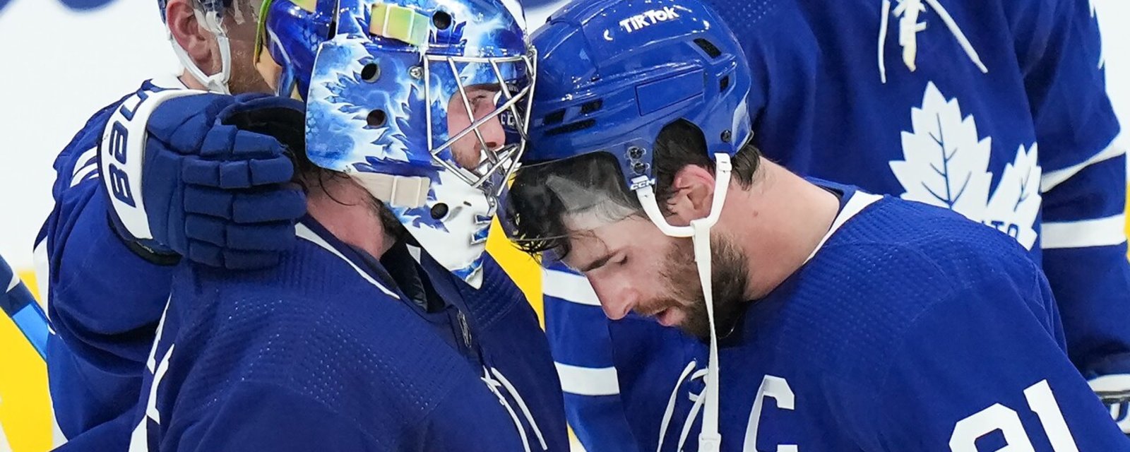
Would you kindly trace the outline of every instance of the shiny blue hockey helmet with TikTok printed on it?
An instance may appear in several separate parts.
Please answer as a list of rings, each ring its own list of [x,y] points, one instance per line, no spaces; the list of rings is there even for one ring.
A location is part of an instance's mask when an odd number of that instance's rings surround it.
[[[523,164],[609,153],[633,188],[654,183],[653,145],[676,120],[711,156],[750,137],[751,76],[738,40],[699,1],[574,1],[533,34],[538,92]]]

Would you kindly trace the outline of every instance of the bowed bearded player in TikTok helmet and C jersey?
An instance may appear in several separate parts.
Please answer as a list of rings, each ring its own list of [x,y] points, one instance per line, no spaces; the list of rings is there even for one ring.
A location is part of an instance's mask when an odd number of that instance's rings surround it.
[[[1016,240],[748,145],[764,99],[721,24],[693,1],[609,0],[534,35],[514,238],[583,271],[609,318],[709,342],[636,349],[678,363],[620,388],[652,409],[628,412],[655,427],[637,449],[1130,450]]]

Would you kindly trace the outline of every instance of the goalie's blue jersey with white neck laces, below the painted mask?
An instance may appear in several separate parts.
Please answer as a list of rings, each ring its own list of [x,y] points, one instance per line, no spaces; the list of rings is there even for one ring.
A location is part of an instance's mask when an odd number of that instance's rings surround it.
[[[568,450],[548,345],[497,263],[473,290],[405,245],[377,261],[308,218],[298,237],[273,269],[180,269],[131,451]]]

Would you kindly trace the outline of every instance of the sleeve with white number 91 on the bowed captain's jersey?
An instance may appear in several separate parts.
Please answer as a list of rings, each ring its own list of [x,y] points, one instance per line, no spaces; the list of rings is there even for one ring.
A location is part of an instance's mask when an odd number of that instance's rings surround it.
[[[906,329],[885,375],[842,412],[872,451],[1130,451],[1063,354],[1051,289],[1001,277],[953,293]],[[873,397],[863,395],[875,394]],[[1007,447],[1006,447],[1007,445]]]

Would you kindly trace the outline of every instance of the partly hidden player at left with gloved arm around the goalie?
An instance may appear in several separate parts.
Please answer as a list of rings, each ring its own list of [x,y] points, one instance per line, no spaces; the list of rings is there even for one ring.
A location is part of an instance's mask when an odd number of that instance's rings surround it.
[[[125,414],[138,400],[172,272],[182,255],[229,269],[271,264],[295,243],[293,225],[305,212],[303,193],[288,184],[289,159],[270,137],[229,144],[228,153],[151,146],[146,159],[113,168],[113,158],[98,156],[111,115],[122,107],[132,112],[153,93],[270,90],[252,61],[260,2],[158,0],[158,7],[183,73],[146,80],[137,93],[90,118],[55,159],[55,206],[36,240],[36,254],[45,264],[37,268],[40,280],[46,282],[42,295],[56,332],[47,339],[46,362],[60,442],[114,421],[132,421]],[[200,124],[201,130],[210,127]],[[251,158],[260,164],[246,185],[218,180],[189,184],[181,177],[188,166],[219,171],[246,165],[243,162]],[[263,165],[268,160],[273,164]],[[145,184],[139,184],[141,180]],[[214,199],[194,203],[184,198],[190,186],[226,191],[229,201],[237,195],[241,209],[255,212],[255,218],[236,221],[227,212],[202,218],[257,229],[255,241],[201,236],[199,231],[189,237],[186,220],[217,210],[201,205]],[[115,188],[123,198],[132,198],[133,206],[112,202],[108,193]]]

